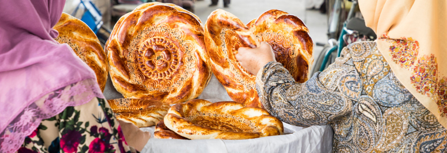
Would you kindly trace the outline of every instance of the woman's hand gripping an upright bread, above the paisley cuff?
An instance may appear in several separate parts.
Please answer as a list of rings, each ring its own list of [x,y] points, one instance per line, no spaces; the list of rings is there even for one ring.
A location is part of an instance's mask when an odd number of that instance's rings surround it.
[[[267,63],[276,62],[272,47],[267,42],[261,42],[257,48],[240,47],[237,51],[239,53],[237,53],[236,59],[239,64],[254,75],[257,75],[259,69]]]

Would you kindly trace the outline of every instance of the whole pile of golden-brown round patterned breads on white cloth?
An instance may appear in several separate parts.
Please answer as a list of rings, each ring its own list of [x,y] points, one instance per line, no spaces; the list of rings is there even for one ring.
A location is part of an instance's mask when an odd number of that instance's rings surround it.
[[[261,108],[254,88],[256,76],[239,65],[237,49],[270,43],[277,61],[299,82],[307,80],[313,60],[306,26],[279,10],[244,25],[218,9],[204,27],[197,16],[177,5],[145,3],[118,20],[104,51],[93,31],[68,14],[55,29],[60,34],[56,40],[68,43],[97,73],[101,89],[110,73],[114,88],[124,97],[108,100],[117,119],[138,127],[157,123],[156,138],[281,135],[282,122]],[[212,72],[236,102],[194,99]]]

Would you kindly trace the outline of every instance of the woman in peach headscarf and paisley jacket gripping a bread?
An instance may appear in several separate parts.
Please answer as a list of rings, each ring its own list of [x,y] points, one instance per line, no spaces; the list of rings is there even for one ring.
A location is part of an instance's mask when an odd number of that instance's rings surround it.
[[[447,1],[359,0],[379,38],[296,83],[270,45],[240,48],[262,104],[297,126],[332,126],[334,153],[447,152]]]

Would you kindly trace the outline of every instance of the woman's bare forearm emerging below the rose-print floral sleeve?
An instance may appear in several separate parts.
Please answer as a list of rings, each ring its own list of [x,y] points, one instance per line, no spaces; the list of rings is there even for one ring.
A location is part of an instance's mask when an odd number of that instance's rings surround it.
[[[121,126],[122,134],[124,135],[127,144],[134,147],[138,151],[144,148],[144,145],[148,143],[151,138],[150,132],[141,131],[135,124],[118,120]]]

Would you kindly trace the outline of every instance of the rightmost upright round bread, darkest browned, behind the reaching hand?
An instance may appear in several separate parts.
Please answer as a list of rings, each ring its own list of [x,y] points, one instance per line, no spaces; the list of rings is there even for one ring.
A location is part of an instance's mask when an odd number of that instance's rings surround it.
[[[262,13],[247,24],[259,42],[272,46],[276,61],[304,83],[313,63],[313,42],[309,30],[298,17],[277,9]]]

